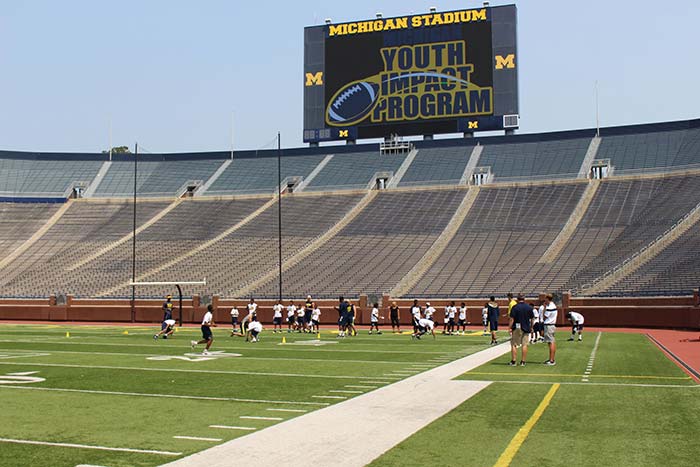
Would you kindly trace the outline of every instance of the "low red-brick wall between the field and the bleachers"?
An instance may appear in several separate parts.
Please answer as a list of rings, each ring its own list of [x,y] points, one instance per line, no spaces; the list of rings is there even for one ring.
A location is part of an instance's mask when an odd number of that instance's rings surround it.
[[[668,328],[668,329],[700,329],[700,294],[696,289],[692,296],[683,297],[639,297],[639,298],[587,298],[571,297],[564,294],[558,317],[560,326],[568,325],[566,311],[576,310],[586,317],[587,326],[601,327],[632,327],[632,328]],[[537,301],[539,297],[528,297],[527,301]],[[412,300],[395,300],[401,310],[401,323],[410,326],[410,307]],[[435,309],[436,325],[442,326],[443,310],[449,300],[427,300]],[[457,306],[461,300],[455,299]],[[174,317],[179,318],[178,302],[175,302]],[[304,297],[295,300],[297,305],[304,302]],[[361,296],[359,300],[352,300],[357,306],[358,313],[356,323],[368,325],[371,304],[367,296]],[[389,326],[389,305],[391,297],[382,298],[383,326]],[[420,300],[424,305],[426,300]],[[472,326],[481,325],[481,308],[483,299],[464,300],[467,305],[467,319]],[[501,305],[502,315],[507,309],[506,300],[498,300]],[[215,308],[214,320],[222,326],[230,323],[229,311],[235,304],[241,310],[241,316],[245,315],[247,300],[224,300],[218,296],[212,297],[212,305]],[[272,323],[272,300],[260,300],[259,316],[263,323]],[[337,322],[337,314],[334,307],[337,300],[318,300],[321,307],[321,324],[334,325]],[[158,323],[162,319],[161,300],[136,300],[134,304],[135,322]],[[288,301],[284,302],[286,306]],[[183,299],[183,322],[197,324],[200,322],[206,305],[197,295],[191,299]],[[285,313],[286,317],[286,313]],[[127,323],[131,322],[131,302],[129,300],[87,300],[74,299],[68,296],[65,304],[57,304],[56,297],[49,299],[0,299],[0,320],[10,321],[67,321],[67,322],[105,322]],[[508,319],[501,316],[500,324],[506,325]],[[283,325],[284,327],[284,325]]]

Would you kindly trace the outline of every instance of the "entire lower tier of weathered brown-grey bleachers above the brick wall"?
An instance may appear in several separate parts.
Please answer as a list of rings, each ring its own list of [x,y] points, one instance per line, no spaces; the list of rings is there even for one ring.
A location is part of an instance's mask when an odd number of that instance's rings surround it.
[[[600,187],[581,222],[561,252],[543,261],[588,183],[600,183]],[[285,269],[283,294],[388,293],[423,260],[474,189],[376,192],[344,227]],[[283,260],[333,228],[364,196],[363,192],[284,195]],[[27,207],[3,204],[6,212]],[[576,289],[620,264],[698,204],[700,173],[481,187],[454,236],[429,259],[430,267],[404,296],[483,297],[511,290],[534,294]],[[26,229],[11,228],[4,218],[0,222],[5,234],[0,260],[55,209],[55,205],[29,206],[32,222]],[[189,198],[142,201],[137,206],[139,226],[168,209],[137,235],[138,280],[206,277],[206,286],[188,287],[186,292],[239,297],[238,291],[253,284],[244,296],[277,296],[275,198]],[[41,238],[0,269],[0,295],[129,296],[132,216],[127,200],[72,200]],[[691,228],[643,268],[601,294],[689,293],[700,283],[698,233],[698,226]],[[137,290],[144,297],[169,291],[165,286]]]

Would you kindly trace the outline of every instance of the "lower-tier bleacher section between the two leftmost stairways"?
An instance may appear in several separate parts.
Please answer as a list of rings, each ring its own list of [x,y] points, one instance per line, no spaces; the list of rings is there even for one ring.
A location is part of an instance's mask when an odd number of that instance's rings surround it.
[[[153,217],[168,201],[137,203],[137,226]],[[0,274],[3,294],[7,296],[38,296],[70,290],[61,289],[58,281],[47,277],[60,271],[99,248],[128,234],[133,227],[133,205],[124,201],[85,200],[74,202],[67,212],[30,248],[6,265]],[[74,280],[84,275],[73,273]],[[64,280],[69,280],[69,278]],[[99,282],[98,277],[88,278]]]

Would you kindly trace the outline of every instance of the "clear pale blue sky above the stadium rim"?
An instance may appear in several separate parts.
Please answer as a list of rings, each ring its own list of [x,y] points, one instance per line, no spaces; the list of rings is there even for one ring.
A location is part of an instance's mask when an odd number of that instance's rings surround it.
[[[516,3],[520,133],[593,127],[596,80],[602,126],[700,117],[700,1]],[[304,26],[480,5],[2,0],[0,149],[301,146]]]

